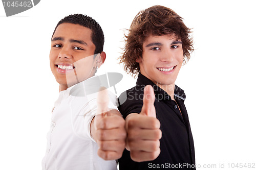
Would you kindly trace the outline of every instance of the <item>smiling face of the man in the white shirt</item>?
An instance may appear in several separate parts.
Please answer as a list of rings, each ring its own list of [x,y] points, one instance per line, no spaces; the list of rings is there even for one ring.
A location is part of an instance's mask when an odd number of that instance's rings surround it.
[[[60,91],[94,76],[97,63],[91,35],[90,29],[73,23],[57,27],[52,37],[50,67]]]

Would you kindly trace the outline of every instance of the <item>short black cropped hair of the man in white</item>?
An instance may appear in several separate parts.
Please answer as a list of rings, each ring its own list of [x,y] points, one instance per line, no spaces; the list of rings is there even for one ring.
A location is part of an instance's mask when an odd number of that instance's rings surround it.
[[[52,37],[61,23],[74,23],[92,30],[92,41],[96,46],[94,54],[103,52],[104,34],[99,23],[92,17],[83,14],[72,14],[61,19],[52,34]]]

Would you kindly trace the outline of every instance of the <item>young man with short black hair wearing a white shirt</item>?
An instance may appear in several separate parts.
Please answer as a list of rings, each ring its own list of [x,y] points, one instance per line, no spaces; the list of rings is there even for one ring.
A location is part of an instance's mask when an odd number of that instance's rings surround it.
[[[116,96],[99,91],[94,76],[106,58],[103,44],[102,29],[86,15],[69,15],[54,30],[50,67],[60,92],[42,169],[117,169],[126,132]]]

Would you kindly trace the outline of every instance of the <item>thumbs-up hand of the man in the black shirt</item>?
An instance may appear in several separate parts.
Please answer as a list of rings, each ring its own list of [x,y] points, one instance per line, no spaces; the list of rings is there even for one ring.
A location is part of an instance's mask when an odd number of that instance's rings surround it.
[[[152,86],[144,88],[143,106],[140,114],[131,113],[125,119],[127,131],[126,149],[136,162],[151,161],[160,154],[162,132],[154,107],[155,93]]]

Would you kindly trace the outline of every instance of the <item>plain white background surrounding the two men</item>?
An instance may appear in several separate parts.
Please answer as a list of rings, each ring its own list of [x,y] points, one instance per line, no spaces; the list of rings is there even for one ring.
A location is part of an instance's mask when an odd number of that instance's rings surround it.
[[[51,109],[58,97],[49,67],[57,22],[83,13],[100,23],[107,59],[99,73],[120,72],[120,94],[136,82],[117,64],[124,29],[140,10],[153,5],[173,9],[194,31],[196,50],[176,84],[186,92],[197,164],[225,163],[228,169],[227,163],[256,163],[253,2],[42,0],[11,17],[0,4],[0,169],[41,169]]]

